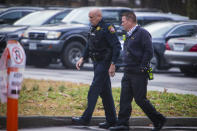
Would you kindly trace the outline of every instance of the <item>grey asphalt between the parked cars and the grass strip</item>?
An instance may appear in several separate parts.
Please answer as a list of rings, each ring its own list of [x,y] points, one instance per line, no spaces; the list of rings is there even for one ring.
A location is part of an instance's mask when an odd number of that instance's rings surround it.
[[[111,78],[112,87],[120,87],[123,73],[116,72],[115,77]],[[27,66],[24,72],[25,78],[71,81],[76,83],[90,84],[93,78],[91,65],[77,71],[75,69],[65,69],[58,64],[52,64],[47,68],[35,68]],[[154,73],[154,80],[149,81],[148,90],[167,91],[181,94],[197,95],[197,77],[186,77],[178,68],[172,68],[168,71],[159,71]]]

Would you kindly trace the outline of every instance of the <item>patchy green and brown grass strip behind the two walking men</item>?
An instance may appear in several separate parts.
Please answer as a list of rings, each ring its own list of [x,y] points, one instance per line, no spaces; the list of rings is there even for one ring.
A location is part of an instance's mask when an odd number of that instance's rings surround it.
[[[25,79],[19,98],[20,116],[80,116],[86,108],[89,85],[63,81]],[[120,88],[113,88],[116,111],[119,111]],[[149,91],[148,99],[165,116],[197,117],[197,96]],[[132,103],[132,116],[145,116]],[[0,103],[0,116],[6,115],[6,104]],[[98,99],[94,116],[104,116],[101,98]]]

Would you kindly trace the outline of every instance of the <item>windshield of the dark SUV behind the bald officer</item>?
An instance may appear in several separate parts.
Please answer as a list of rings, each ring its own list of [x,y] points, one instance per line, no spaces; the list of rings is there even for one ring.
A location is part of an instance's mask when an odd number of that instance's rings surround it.
[[[88,13],[90,8],[81,8],[71,11],[63,20],[64,23],[89,24]]]

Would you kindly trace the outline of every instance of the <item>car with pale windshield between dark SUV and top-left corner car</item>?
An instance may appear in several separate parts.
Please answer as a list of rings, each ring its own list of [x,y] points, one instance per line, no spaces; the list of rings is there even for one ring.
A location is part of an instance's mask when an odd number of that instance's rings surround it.
[[[0,56],[6,47],[8,39],[20,40],[24,31],[32,26],[60,23],[61,20],[71,11],[64,10],[41,10],[36,11],[16,21],[13,25],[0,27]]]

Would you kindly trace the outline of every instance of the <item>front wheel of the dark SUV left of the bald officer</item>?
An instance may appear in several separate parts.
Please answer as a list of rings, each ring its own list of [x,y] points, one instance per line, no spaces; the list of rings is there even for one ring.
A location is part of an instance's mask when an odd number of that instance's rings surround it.
[[[77,61],[81,58],[84,46],[79,41],[70,42],[62,53],[62,63],[65,67],[74,69]]]

